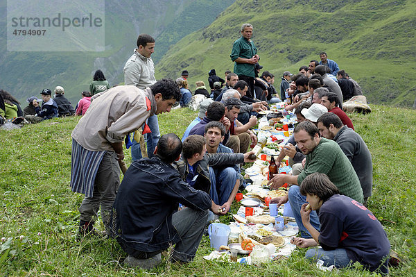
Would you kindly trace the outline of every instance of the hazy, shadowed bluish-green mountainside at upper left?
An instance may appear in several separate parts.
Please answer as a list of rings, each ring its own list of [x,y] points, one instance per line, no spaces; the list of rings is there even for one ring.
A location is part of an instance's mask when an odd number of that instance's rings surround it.
[[[160,58],[171,44],[209,25],[233,1],[105,1],[105,51],[12,52],[6,51],[6,0],[0,0],[0,88],[24,100],[44,87],[62,85],[76,103],[96,69],[103,70],[110,85],[123,82],[123,66],[139,33],[156,38]],[[31,1],[34,9],[36,2]]]

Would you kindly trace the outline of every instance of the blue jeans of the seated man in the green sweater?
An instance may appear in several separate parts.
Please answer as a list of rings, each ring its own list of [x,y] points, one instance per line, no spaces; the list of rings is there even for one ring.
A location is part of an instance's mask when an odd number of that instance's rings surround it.
[[[305,228],[305,226],[302,224],[302,217],[300,216],[300,208],[302,207],[304,203],[307,203],[306,196],[303,196],[302,194],[300,194],[299,185],[292,185],[291,188],[289,189],[288,196],[289,196],[289,203],[291,203],[293,215],[295,216],[295,219],[296,219],[296,224],[300,230],[300,236],[311,238],[312,236],[309,233],[309,231]],[[309,215],[309,218],[310,218],[311,225],[313,226],[313,228],[319,231],[320,223],[319,223],[318,215],[316,214],[315,210],[311,212],[311,214]]]

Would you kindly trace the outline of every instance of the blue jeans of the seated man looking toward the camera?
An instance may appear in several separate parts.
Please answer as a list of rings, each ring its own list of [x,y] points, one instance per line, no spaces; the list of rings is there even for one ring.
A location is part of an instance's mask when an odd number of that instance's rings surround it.
[[[220,170],[209,167],[209,181],[211,181],[209,196],[217,205],[223,205],[228,201],[229,195],[236,185],[236,169],[226,167]]]

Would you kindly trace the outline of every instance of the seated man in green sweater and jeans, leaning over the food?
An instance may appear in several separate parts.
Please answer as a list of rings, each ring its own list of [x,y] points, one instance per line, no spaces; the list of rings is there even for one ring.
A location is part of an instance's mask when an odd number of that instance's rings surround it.
[[[271,189],[277,189],[284,183],[293,184],[287,196],[276,197],[270,203],[279,205],[289,201],[299,226],[302,237],[311,237],[309,231],[302,224],[300,215],[301,206],[306,203],[306,197],[300,194],[299,185],[304,181],[306,176],[313,172],[327,174],[331,182],[338,187],[341,194],[363,203],[363,190],[361,189],[360,180],[351,162],[340,149],[340,146],[332,140],[321,138],[318,128],[310,121],[304,121],[296,126],[293,131],[297,147],[306,155],[304,169],[299,175],[277,174],[269,183]],[[318,215],[311,212],[311,224],[317,230],[320,228]]]

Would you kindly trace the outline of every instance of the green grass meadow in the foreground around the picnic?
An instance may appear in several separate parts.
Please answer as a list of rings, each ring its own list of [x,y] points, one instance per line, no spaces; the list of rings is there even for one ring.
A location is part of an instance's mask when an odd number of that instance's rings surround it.
[[[404,258],[401,267],[390,269],[391,276],[416,276],[416,112],[387,106],[372,110],[351,115],[374,163],[369,208],[385,227],[392,249]],[[161,133],[181,136],[195,117],[189,109],[160,115]],[[69,178],[70,134],[78,119],[0,131],[0,276],[374,276],[360,265],[320,271],[304,260],[302,249],[263,267],[211,262],[202,258],[213,250],[207,237],[189,265],[164,257],[161,267],[146,272],[124,267],[126,255],[114,240],[76,242],[83,195],[71,192]],[[130,164],[130,152],[125,153]]]

